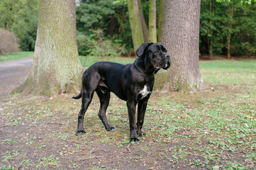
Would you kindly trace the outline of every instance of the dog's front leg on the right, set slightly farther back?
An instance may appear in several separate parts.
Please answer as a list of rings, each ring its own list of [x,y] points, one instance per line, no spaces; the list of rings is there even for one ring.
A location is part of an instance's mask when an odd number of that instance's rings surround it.
[[[144,123],[145,111],[147,108],[148,99],[143,99],[138,103],[138,121],[137,121],[137,134],[138,136],[145,136],[144,132],[141,132]]]

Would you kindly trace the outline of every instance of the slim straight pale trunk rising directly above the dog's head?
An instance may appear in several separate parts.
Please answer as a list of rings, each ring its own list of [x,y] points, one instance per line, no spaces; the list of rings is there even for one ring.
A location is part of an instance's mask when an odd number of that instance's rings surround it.
[[[156,0],[150,0],[148,28],[149,28],[150,42],[157,42],[157,4],[156,4]]]

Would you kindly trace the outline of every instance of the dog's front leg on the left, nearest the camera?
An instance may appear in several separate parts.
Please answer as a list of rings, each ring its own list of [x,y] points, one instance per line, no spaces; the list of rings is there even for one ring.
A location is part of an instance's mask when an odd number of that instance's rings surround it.
[[[128,116],[129,116],[129,123],[130,123],[130,142],[139,142],[136,130],[136,122],[135,122],[135,107],[137,102],[135,101],[127,101],[127,108],[128,108]]]

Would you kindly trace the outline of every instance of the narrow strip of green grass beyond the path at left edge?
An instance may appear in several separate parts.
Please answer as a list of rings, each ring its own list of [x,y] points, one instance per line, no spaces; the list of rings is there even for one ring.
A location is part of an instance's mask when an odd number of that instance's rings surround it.
[[[0,62],[9,60],[19,60],[27,57],[33,57],[34,52],[12,52],[6,55],[0,55]]]

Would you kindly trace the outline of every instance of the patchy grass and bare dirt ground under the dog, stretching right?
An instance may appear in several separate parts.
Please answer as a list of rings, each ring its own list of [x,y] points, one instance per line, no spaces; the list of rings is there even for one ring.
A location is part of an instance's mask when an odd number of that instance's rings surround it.
[[[147,135],[136,145],[126,103],[113,94],[108,122],[117,130],[104,130],[94,95],[82,136],[74,135],[76,94],[9,96],[0,108],[0,169],[256,169],[256,60],[200,62],[200,70],[206,91],[153,91]]]

